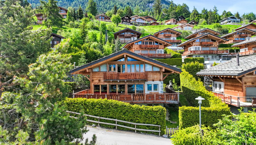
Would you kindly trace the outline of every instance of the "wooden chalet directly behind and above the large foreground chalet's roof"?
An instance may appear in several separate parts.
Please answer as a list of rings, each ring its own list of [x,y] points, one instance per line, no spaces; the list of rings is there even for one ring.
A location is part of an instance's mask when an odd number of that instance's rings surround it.
[[[172,43],[168,41],[153,35],[147,35],[145,37],[126,43],[124,48],[131,52],[150,58],[170,58],[171,54],[164,53],[164,48],[171,45]]]

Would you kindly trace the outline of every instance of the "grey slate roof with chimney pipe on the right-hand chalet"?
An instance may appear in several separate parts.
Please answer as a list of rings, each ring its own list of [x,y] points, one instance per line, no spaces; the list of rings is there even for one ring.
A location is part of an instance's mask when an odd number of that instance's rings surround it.
[[[256,55],[239,57],[237,66],[236,58],[201,70],[197,75],[202,76],[243,76],[256,70]]]

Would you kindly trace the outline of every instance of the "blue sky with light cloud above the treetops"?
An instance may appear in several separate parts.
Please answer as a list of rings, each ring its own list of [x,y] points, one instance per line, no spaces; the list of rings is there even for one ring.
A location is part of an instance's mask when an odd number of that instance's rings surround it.
[[[240,15],[249,12],[256,13],[256,0],[173,0],[173,2],[176,4],[187,4],[190,11],[194,9],[194,6],[199,12],[201,12],[204,7],[210,10],[216,6],[219,10],[219,14],[221,14],[223,10],[231,11],[232,13],[238,11]]]

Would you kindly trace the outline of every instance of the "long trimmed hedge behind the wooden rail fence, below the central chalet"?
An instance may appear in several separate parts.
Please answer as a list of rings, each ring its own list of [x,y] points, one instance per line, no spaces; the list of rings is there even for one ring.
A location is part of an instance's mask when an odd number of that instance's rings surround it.
[[[86,98],[67,98],[65,100],[66,110],[73,112],[84,112],[85,114],[119,119],[135,123],[161,125],[161,135],[165,134],[166,109],[162,106],[139,106],[117,100],[107,99],[86,99]],[[96,118],[88,119],[98,121]],[[100,120],[102,122],[115,123],[110,120]],[[118,122],[118,124],[134,127],[132,124]],[[100,126],[115,128],[112,125],[100,124]],[[137,125],[137,128],[158,130],[156,126]],[[128,128],[117,127],[122,130],[131,130]],[[134,131],[134,130],[133,130]],[[152,134],[153,132],[148,132]],[[158,135],[158,133],[154,133]]]

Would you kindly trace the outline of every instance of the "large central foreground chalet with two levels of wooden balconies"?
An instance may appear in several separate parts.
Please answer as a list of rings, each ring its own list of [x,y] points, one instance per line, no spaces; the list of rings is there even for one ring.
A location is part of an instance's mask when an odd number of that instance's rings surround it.
[[[163,80],[170,74],[180,74],[181,69],[128,50],[79,66],[70,73],[84,75],[90,81],[90,89],[74,93],[73,97],[143,105],[179,103],[179,93],[168,88],[164,92]]]

